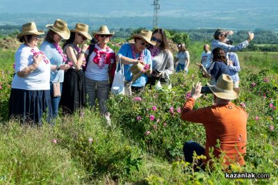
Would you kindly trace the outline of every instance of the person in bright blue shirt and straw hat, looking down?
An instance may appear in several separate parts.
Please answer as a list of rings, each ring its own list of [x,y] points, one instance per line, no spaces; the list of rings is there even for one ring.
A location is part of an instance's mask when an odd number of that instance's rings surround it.
[[[138,77],[136,81],[132,81],[131,66],[141,63],[147,69],[150,69],[149,73],[151,74],[152,56],[147,47],[156,45],[156,42],[152,41],[152,31],[142,30],[140,33],[134,33],[131,37],[135,43],[122,45],[117,54],[117,60],[120,58],[122,63],[124,63],[124,94],[129,96],[131,96],[131,91],[142,91],[147,83],[147,75],[145,73]]]

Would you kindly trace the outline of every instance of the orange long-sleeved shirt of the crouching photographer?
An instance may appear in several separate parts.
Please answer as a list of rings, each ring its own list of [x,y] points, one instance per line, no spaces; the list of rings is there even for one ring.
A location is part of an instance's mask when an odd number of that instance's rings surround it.
[[[244,165],[243,155],[247,145],[247,113],[239,106],[229,104],[207,106],[193,110],[195,99],[188,98],[181,111],[181,120],[199,122],[206,128],[206,161],[209,160],[209,148],[213,147],[214,156],[224,152],[225,163],[236,161]],[[220,148],[217,145],[220,141]]]

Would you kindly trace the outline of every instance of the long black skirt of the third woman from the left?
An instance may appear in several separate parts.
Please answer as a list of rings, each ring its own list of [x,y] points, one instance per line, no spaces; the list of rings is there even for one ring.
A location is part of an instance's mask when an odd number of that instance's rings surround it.
[[[85,78],[83,70],[65,72],[60,106],[64,113],[74,113],[85,106]]]

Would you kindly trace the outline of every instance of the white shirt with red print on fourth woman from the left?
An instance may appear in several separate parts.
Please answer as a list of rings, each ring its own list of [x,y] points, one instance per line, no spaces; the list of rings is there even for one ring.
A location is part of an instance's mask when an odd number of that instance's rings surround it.
[[[98,45],[95,45],[95,48],[99,49],[99,51],[106,51],[106,49],[101,49]],[[88,50],[87,50],[88,51]],[[106,51],[107,52],[107,51]],[[108,53],[113,54],[114,51],[109,48]],[[92,59],[96,56],[95,51],[92,51],[92,54],[89,56],[88,65],[85,70],[85,77],[88,79],[96,80],[96,81],[108,81],[108,67],[106,64],[104,67],[99,67]],[[104,63],[104,55],[101,55],[100,65],[102,66]],[[111,58],[111,64],[114,63],[114,59]]]

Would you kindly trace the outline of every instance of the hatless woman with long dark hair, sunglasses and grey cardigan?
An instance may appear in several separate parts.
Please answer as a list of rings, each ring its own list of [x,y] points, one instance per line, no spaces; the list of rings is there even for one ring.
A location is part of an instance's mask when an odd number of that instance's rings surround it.
[[[160,81],[161,85],[169,86],[170,74],[174,71],[174,60],[165,31],[156,29],[152,33],[152,40],[156,45],[149,47],[152,55],[152,74],[148,77],[147,84],[154,86],[156,81]]]

